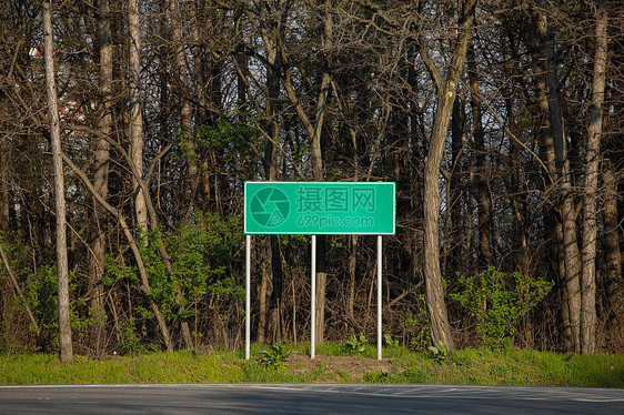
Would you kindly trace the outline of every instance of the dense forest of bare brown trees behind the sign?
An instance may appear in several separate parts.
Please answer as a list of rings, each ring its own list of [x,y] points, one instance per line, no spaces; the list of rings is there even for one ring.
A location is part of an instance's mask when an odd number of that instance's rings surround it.
[[[396,183],[389,342],[622,352],[618,1],[0,12],[0,352],[241,348],[249,180]],[[254,342],[309,341],[310,237],[252,252]],[[375,239],[318,253],[316,342],[374,338]]]

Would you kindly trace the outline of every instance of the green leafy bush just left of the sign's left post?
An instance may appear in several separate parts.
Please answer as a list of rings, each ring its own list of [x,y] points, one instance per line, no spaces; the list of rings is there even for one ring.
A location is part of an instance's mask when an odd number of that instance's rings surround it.
[[[140,233],[138,240],[150,295],[167,320],[193,316],[190,305],[204,295],[227,302],[244,296],[244,290],[228,273],[232,251],[242,242],[236,217],[223,220],[217,214],[198,214],[193,223],[187,223],[179,232],[159,227]],[[163,260],[161,244],[169,255],[171,271]],[[137,281],[137,270],[122,260],[109,257],[107,271],[107,285],[121,280]],[[152,316],[143,307],[138,306],[137,311],[144,317]]]

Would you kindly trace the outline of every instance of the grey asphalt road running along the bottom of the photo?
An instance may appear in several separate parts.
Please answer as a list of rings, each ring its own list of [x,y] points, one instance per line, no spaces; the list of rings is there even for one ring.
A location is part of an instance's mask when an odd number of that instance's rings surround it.
[[[0,386],[0,414],[624,414],[624,389],[383,384]]]

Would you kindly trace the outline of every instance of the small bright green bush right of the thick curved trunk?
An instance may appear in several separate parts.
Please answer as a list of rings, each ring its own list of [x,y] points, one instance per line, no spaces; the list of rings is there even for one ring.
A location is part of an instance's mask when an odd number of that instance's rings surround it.
[[[461,275],[459,289],[450,297],[467,307],[476,317],[476,331],[483,343],[493,348],[511,346],[516,324],[551,291],[553,282],[531,279],[514,272],[507,275],[494,267]]]

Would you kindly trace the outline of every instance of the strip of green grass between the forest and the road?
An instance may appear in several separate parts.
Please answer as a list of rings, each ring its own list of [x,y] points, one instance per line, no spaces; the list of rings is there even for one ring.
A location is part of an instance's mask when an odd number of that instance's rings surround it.
[[[309,355],[309,345],[284,345],[290,355]],[[191,352],[148,353],[90,360],[74,356],[62,365],[56,355],[0,355],[0,384],[88,383],[231,383],[231,382],[361,382],[475,384],[526,386],[624,387],[624,355],[580,356],[551,352],[470,348],[451,353],[442,362],[430,352],[403,347],[383,351],[390,371],[371,370],[354,375],[344,367],[309,362],[308,365],[272,367],[259,356],[268,346],[254,345],[252,358],[242,352],[219,351],[208,355]],[[341,344],[316,347],[316,356],[344,356]],[[376,348],[368,345],[361,356],[375,367]],[[296,367],[295,367],[296,366]],[[376,366],[379,367],[379,366]]]

